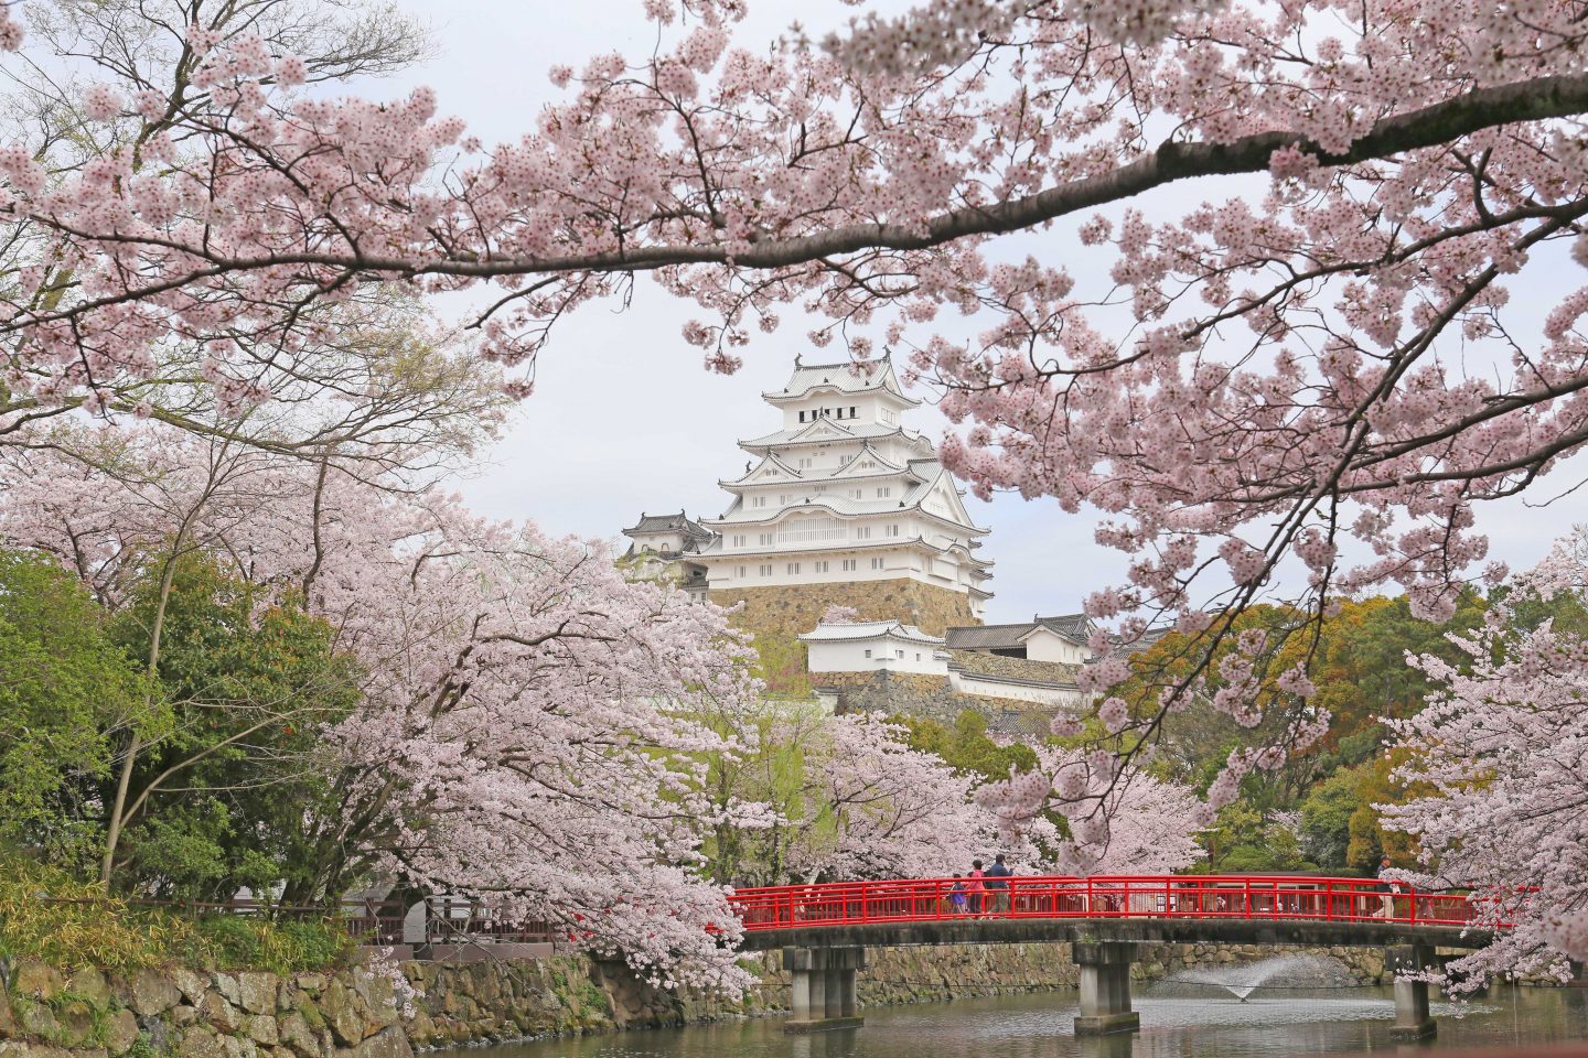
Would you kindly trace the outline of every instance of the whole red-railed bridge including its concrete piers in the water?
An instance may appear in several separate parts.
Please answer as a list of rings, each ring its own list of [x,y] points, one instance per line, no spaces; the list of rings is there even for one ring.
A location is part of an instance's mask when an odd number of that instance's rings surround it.
[[[1437,966],[1436,947],[1490,942],[1482,898],[1372,879],[1299,876],[1010,877],[829,882],[742,888],[732,904],[746,950],[783,949],[791,1031],[858,1025],[854,974],[867,947],[1067,942],[1080,968],[1077,1033],[1129,1031],[1140,944],[1296,944],[1390,949],[1397,974]],[[986,880],[983,880],[983,887]],[[1434,1033],[1428,983],[1396,980],[1402,1039]]]

